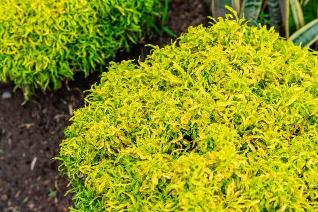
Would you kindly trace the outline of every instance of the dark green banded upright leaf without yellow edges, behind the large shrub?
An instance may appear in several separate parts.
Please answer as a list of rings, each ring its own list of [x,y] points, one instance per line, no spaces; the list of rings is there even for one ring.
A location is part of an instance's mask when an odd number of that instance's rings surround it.
[[[268,12],[271,21],[271,26],[274,26],[275,31],[281,34],[281,12],[277,0],[267,0]]]

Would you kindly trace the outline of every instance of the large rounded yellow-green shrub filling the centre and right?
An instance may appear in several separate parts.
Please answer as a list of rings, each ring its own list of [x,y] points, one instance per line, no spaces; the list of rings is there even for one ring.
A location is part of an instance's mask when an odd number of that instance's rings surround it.
[[[75,111],[74,211],[317,211],[318,57],[243,19],[112,63]]]

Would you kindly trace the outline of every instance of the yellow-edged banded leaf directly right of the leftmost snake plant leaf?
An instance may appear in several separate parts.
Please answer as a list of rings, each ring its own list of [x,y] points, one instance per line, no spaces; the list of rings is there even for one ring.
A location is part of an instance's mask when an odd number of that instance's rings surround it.
[[[261,12],[262,3],[262,0],[244,0],[240,17],[242,18],[244,15],[246,20],[257,21]]]

